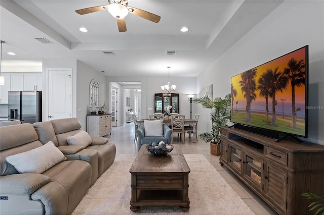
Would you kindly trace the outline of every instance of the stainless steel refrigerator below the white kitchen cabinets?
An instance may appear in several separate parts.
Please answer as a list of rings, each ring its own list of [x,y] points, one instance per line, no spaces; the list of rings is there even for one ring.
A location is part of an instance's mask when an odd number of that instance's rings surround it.
[[[9,91],[8,118],[22,123],[42,122],[42,91]]]

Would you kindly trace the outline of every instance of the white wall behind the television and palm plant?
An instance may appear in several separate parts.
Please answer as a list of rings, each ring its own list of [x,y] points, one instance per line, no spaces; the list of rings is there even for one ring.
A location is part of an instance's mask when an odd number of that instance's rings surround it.
[[[323,8],[323,1],[285,1],[197,77],[197,91],[213,84],[213,97],[224,97],[231,76],[309,45],[309,105],[324,107]],[[210,130],[209,111],[197,106],[200,132]],[[308,139],[302,139],[324,145],[324,110],[308,114]]]

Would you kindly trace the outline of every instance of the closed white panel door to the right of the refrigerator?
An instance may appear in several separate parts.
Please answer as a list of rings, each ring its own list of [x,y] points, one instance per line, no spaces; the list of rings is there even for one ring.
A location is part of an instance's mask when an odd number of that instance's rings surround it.
[[[48,120],[72,116],[72,69],[48,69]]]

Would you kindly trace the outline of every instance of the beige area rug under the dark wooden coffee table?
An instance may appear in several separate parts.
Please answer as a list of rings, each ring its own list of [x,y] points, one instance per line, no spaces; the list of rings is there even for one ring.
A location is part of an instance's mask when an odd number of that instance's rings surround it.
[[[202,154],[185,154],[190,167],[190,209],[176,206],[142,206],[130,210],[134,154],[119,154],[95,182],[72,214],[254,214]]]

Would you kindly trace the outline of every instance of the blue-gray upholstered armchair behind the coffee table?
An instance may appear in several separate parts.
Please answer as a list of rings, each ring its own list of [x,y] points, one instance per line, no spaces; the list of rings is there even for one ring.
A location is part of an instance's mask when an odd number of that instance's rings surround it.
[[[164,141],[167,144],[170,144],[171,142],[171,135],[172,130],[163,123],[163,136],[145,136],[145,128],[144,125],[142,125],[140,128],[137,129],[137,144],[138,144],[138,150],[140,150],[141,146],[143,144],[150,144],[151,142],[159,142]]]

